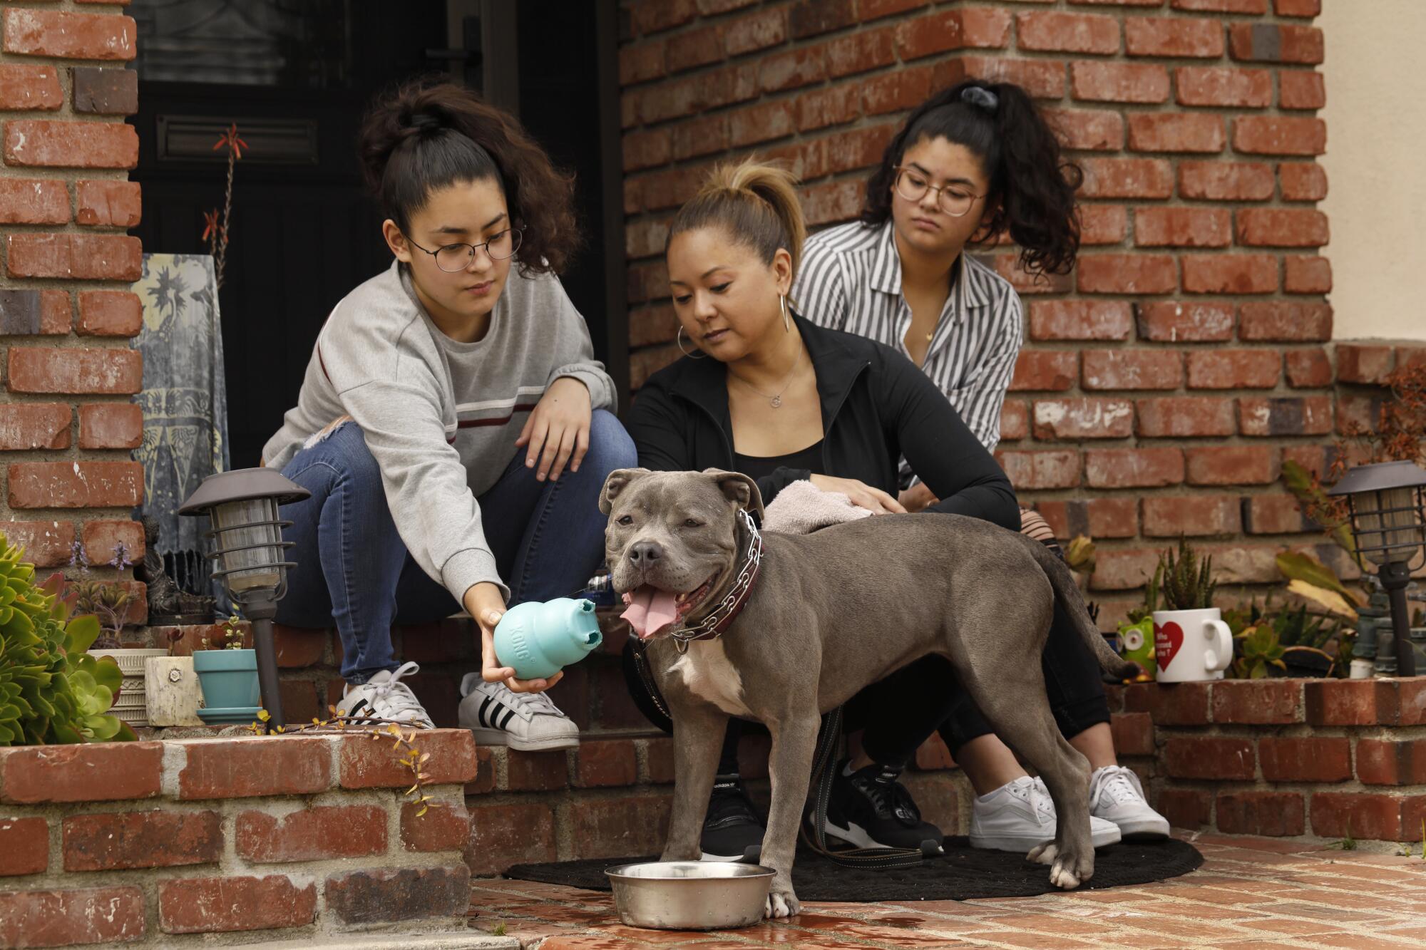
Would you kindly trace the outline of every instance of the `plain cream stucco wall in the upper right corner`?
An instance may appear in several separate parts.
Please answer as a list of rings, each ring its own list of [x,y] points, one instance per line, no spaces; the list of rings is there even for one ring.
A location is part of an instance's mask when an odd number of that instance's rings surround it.
[[[1338,339],[1426,339],[1426,108],[1420,101],[1422,0],[1328,0],[1328,123],[1318,205],[1332,221]]]

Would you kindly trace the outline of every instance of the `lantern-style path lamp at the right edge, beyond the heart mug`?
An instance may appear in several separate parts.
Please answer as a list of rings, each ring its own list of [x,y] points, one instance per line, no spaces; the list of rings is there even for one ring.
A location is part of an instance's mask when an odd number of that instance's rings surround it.
[[[1426,548],[1426,471],[1415,462],[1358,465],[1328,495],[1345,495],[1352,515],[1352,541],[1376,565],[1376,576],[1392,605],[1396,675],[1415,676],[1406,585]],[[1380,648],[1378,648],[1380,649]]]

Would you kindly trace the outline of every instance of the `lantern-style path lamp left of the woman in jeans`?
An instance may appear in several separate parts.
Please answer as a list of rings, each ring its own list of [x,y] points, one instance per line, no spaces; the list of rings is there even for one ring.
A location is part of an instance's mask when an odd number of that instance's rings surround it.
[[[207,536],[214,539],[214,549],[208,556],[218,566],[212,573],[222,579],[228,599],[252,622],[258,686],[262,708],[271,716],[270,730],[287,725],[277,683],[272,618],[277,602],[287,593],[287,569],[297,566],[282,559],[284,549],[292,546],[282,541],[282,528],[292,522],[278,518],[278,505],[309,495],[270,468],[240,468],[202,479],[198,491],[178,509],[180,515],[208,515],[211,521]]]

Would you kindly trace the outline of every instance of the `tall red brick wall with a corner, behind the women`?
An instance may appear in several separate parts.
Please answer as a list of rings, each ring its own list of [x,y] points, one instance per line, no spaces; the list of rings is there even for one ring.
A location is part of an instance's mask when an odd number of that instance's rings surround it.
[[[626,1],[633,385],[677,355],[666,223],[712,161],[784,158],[813,225],[850,220],[910,107],[1014,80],[1085,170],[1085,247],[1041,281],[988,252],[1028,317],[1002,465],[1057,533],[1101,542],[1109,622],[1179,533],[1228,583],[1275,581],[1283,543],[1319,541],[1275,482],[1283,459],[1320,464],[1336,408],[1318,6]]]

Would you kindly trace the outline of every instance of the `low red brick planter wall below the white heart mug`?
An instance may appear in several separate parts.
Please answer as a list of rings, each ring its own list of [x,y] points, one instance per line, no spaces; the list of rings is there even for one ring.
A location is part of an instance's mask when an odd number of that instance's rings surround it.
[[[1137,685],[1109,705],[1119,753],[1176,827],[1422,840],[1420,679]]]

